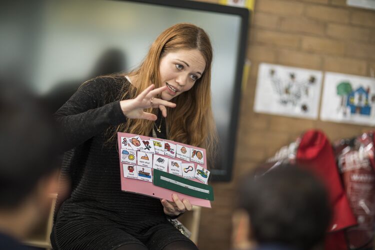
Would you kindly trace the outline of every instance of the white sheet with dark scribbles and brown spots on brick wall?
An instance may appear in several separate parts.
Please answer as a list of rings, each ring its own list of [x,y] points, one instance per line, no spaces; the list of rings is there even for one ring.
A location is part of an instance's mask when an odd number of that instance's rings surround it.
[[[321,79],[321,71],[261,63],[254,111],[316,119]]]

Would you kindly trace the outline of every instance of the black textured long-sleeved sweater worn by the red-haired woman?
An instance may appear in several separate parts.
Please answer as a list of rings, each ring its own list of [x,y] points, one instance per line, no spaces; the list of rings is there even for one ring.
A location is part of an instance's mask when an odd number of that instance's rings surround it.
[[[124,77],[93,79],[55,113],[63,132],[63,147],[70,149],[63,160],[62,178],[71,180],[70,197],[58,197],[56,209],[63,202],[60,213],[87,207],[118,223],[133,221],[136,223],[131,227],[147,227],[166,220],[160,200],[121,191],[117,143],[104,143],[108,128],[110,133],[126,121],[116,100],[124,84],[130,84]],[[156,124],[160,118],[158,115]],[[166,138],[165,122],[161,127],[157,136]]]

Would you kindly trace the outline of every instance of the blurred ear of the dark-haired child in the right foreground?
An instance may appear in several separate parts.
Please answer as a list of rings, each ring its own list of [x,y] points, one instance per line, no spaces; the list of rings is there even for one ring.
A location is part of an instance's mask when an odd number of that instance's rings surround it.
[[[251,249],[250,217],[243,209],[236,209],[232,215],[232,249]]]

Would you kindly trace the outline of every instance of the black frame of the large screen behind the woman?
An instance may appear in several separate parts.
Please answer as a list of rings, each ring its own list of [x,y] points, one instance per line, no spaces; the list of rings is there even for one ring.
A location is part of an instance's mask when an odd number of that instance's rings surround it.
[[[247,33],[248,33],[248,20],[250,18],[250,11],[247,8],[233,7],[228,5],[221,5],[209,2],[198,2],[193,0],[115,0],[115,1],[129,1],[138,3],[148,3],[154,5],[162,5],[168,7],[179,7],[194,10],[203,10],[209,12],[218,12],[237,15],[241,18],[241,26],[239,31],[239,44],[237,51],[237,66],[235,69],[235,79],[234,79],[234,91],[233,91],[233,102],[231,108],[231,115],[229,121],[229,137],[233,138],[231,140],[232,145],[228,147],[227,151],[227,162],[222,162],[222,164],[227,165],[225,169],[211,168],[210,180],[211,181],[225,181],[228,182],[232,178],[232,169],[234,161],[234,152],[236,145],[237,136],[237,125],[238,125],[238,114],[240,108],[240,97],[241,97],[241,85],[242,85],[242,73],[243,65],[245,62],[246,54],[246,44],[247,44]],[[225,171],[223,171],[225,170]]]

